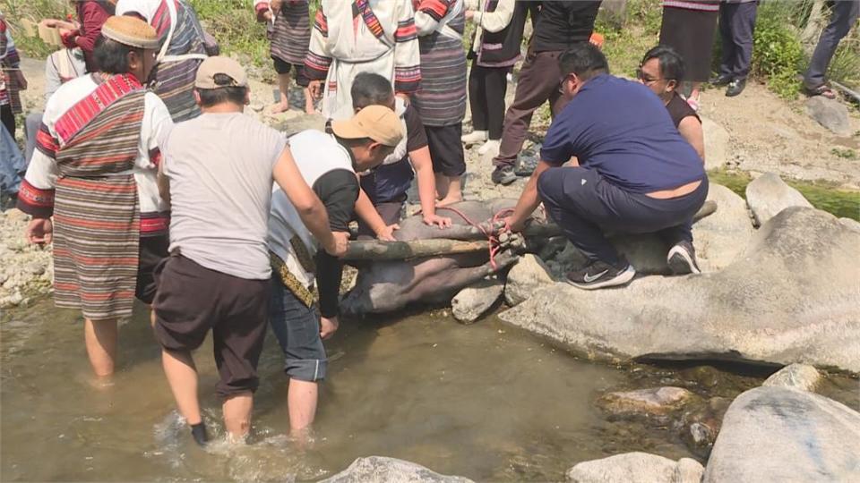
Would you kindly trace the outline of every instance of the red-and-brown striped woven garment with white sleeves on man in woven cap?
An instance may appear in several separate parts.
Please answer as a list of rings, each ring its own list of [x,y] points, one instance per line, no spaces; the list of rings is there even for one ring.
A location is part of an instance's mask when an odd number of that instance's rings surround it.
[[[168,226],[154,140],[169,123],[163,103],[127,74],[71,80],[48,102],[18,207],[54,216],[58,307],[96,320],[131,315],[140,237]]]

